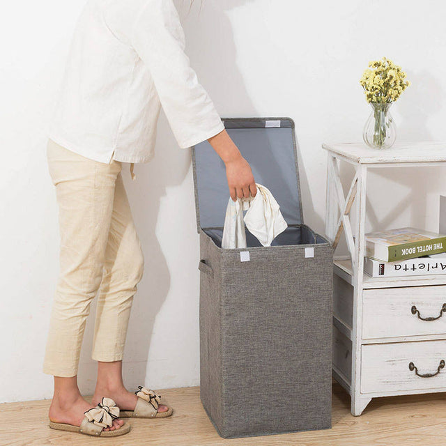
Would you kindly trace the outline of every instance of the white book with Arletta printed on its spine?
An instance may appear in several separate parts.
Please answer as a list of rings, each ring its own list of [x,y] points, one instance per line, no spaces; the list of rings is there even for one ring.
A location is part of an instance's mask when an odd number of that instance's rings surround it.
[[[364,272],[371,277],[446,274],[446,252],[397,262],[383,262],[366,257]]]

